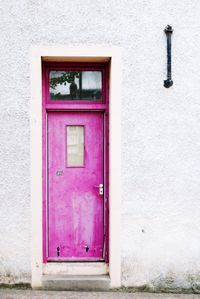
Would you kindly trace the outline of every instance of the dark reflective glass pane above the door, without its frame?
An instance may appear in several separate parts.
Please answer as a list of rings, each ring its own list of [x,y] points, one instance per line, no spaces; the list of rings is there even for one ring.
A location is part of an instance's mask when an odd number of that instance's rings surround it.
[[[101,71],[50,71],[50,100],[102,99]]]

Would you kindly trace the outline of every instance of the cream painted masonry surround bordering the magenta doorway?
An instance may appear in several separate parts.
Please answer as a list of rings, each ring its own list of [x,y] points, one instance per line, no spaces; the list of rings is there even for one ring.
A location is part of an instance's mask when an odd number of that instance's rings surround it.
[[[67,53],[67,55],[66,55]],[[40,288],[43,274],[43,196],[42,196],[42,61],[110,61],[109,88],[109,275],[111,287],[121,286],[120,258],[120,49],[117,47],[41,47],[31,49],[31,269],[32,287]],[[116,188],[117,186],[117,188]],[[69,265],[70,267],[70,265]]]

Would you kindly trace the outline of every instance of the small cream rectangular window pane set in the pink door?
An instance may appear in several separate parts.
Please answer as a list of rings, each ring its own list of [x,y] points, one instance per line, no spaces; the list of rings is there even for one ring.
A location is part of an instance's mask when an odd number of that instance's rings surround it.
[[[84,166],[84,127],[67,126],[67,166]]]

